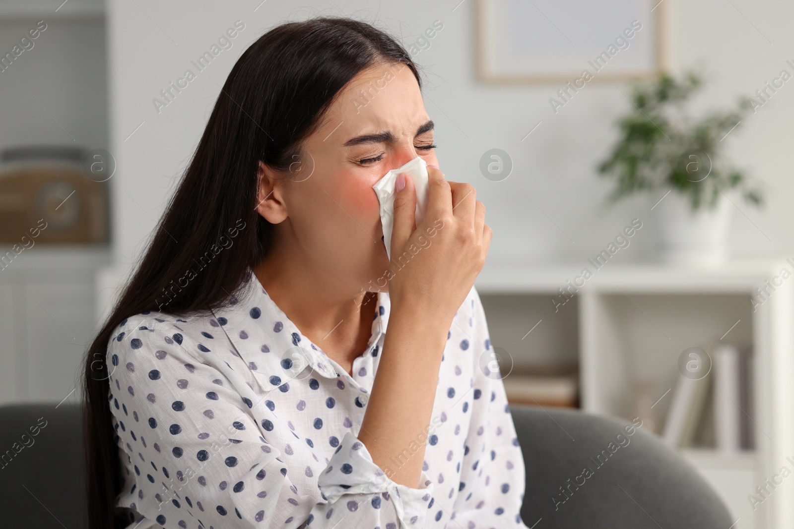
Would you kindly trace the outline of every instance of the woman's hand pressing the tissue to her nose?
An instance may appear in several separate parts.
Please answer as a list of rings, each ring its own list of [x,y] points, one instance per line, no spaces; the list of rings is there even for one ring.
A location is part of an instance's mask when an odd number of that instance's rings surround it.
[[[493,232],[484,223],[485,206],[476,200],[474,186],[449,182],[433,166],[427,167],[427,173],[427,208],[418,226],[416,191],[410,176],[405,175],[405,186],[395,195],[391,233],[391,270],[395,275],[389,281],[389,298],[392,311],[410,307],[451,324],[483,268]],[[412,244],[414,251],[421,248],[416,255],[409,251]]]

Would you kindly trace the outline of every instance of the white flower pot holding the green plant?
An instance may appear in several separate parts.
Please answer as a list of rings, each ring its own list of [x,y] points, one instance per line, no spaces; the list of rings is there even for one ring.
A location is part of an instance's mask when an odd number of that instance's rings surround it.
[[[659,260],[676,266],[714,267],[725,263],[733,209],[729,200],[720,197],[715,209],[693,213],[688,197],[673,190],[651,211]]]

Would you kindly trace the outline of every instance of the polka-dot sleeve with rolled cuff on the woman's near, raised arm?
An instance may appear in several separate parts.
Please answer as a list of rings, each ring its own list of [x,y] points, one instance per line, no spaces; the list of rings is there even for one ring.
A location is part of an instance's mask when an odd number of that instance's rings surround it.
[[[182,327],[141,325],[110,339],[110,409],[134,464],[122,491],[136,493],[131,508],[168,529],[424,525],[433,494],[425,473],[419,489],[391,481],[352,432],[319,464],[272,401],[246,391]]]

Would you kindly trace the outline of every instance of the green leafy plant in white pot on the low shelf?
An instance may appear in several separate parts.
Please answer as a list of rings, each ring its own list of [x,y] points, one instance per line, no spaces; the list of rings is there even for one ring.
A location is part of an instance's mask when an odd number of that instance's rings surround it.
[[[744,202],[763,204],[761,191],[723,154],[752,108],[692,117],[692,94],[703,86],[695,71],[676,79],[668,73],[632,87],[629,112],[617,121],[621,132],[599,174],[612,178],[608,201],[649,194],[649,207],[665,263],[713,266],[726,257],[730,213]]]

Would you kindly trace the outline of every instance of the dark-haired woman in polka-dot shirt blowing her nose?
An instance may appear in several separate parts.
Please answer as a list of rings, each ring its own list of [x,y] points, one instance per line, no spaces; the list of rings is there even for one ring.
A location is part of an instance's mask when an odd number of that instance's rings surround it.
[[[491,229],[437,169],[420,88],[349,19],[242,54],[88,351],[92,529],[524,527],[503,385],[480,368]],[[390,263],[372,186],[417,155],[426,214],[398,178]]]

